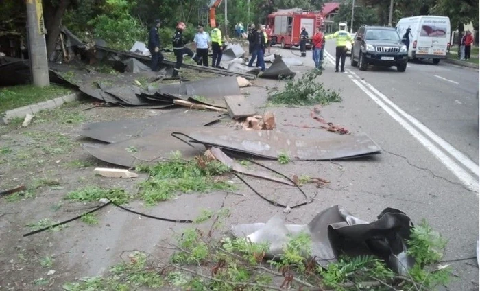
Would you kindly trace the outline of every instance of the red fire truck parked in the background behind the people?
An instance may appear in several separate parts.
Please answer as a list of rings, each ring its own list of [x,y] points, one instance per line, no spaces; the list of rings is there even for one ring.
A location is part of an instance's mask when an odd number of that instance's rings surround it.
[[[302,10],[300,8],[279,9],[267,16],[267,25],[272,27],[272,45],[280,43],[283,48],[300,45],[302,27],[313,36],[317,27],[322,26],[321,11]],[[307,42],[307,49],[311,43]]]

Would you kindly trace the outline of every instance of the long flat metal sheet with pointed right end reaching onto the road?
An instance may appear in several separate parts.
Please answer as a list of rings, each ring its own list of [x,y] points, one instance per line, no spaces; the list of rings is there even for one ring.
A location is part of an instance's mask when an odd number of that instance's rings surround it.
[[[291,159],[324,161],[351,159],[378,154],[381,148],[365,133],[357,135],[331,135],[313,138],[287,135],[278,130],[243,131],[231,128],[197,128],[182,130],[193,141],[224,150],[277,159],[282,153]]]

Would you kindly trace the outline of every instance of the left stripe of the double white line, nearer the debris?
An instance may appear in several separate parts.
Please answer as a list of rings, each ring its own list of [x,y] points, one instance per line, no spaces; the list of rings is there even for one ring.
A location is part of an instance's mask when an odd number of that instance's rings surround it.
[[[400,117],[400,115],[395,113],[394,110],[392,110],[385,103],[379,100],[379,98],[377,98],[372,92],[368,91],[368,89],[366,89],[365,86],[363,86],[359,82],[359,80],[355,80],[355,78],[353,78],[352,75],[348,75],[348,77],[350,78],[350,80],[352,80],[352,82],[354,82],[357,86],[359,86],[359,88],[363,92],[365,92],[365,94],[367,94],[370,98],[372,98],[372,100],[376,102],[376,104],[379,104],[379,106],[381,106],[381,108],[383,108],[385,112],[387,112],[393,119],[395,119],[401,126],[403,126],[403,128],[405,128],[408,132],[410,132],[410,134],[413,135],[413,137],[415,137],[418,141],[420,141],[420,143],[422,143],[422,145],[425,148],[427,148],[429,152],[434,154],[437,157],[437,159],[440,160],[440,162],[442,162],[448,168],[448,170],[451,170],[451,172],[453,172],[453,174],[455,174],[455,176],[457,176],[457,178],[459,178],[459,180],[462,183],[464,183],[464,185],[468,189],[475,191],[477,193],[479,192],[479,184],[477,180],[475,180],[475,178],[470,176],[470,174],[468,174],[464,169],[462,169],[459,165],[457,165],[455,161],[453,161],[449,156],[444,154],[442,150],[437,148],[426,137],[421,135],[420,132],[418,132],[418,130],[413,128],[413,126],[411,126],[407,121],[405,121],[405,119]]]

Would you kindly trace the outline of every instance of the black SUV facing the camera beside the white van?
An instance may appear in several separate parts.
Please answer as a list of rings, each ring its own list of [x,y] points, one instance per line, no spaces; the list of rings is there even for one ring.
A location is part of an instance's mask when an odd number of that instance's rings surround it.
[[[368,65],[407,69],[408,50],[393,27],[362,25],[352,45],[351,64],[365,71]]]

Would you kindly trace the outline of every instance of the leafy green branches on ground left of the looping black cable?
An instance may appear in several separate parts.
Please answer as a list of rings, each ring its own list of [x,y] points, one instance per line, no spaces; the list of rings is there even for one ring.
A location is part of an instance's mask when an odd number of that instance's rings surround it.
[[[217,177],[230,168],[219,161],[207,161],[197,157],[194,161],[171,159],[154,166],[139,166],[140,172],[148,172],[149,180],[141,183],[141,197],[147,205],[156,205],[169,200],[177,192],[191,193],[235,189],[230,183],[219,181]]]

